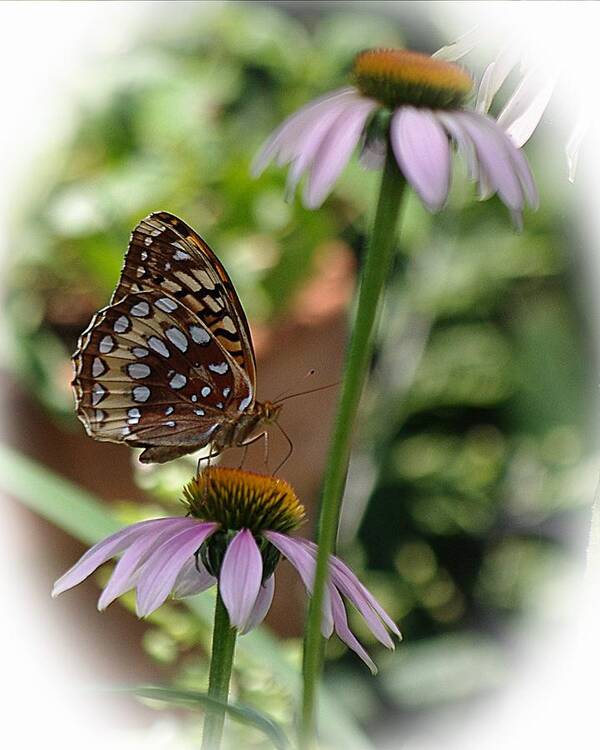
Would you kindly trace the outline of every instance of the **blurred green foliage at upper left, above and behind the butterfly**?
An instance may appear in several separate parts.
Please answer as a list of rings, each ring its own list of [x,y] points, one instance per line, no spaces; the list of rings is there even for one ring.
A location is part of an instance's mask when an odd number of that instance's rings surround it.
[[[151,211],[200,229],[251,318],[285,307],[319,245],[347,218],[335,203],[323,211],[285,203],[285,175],[253,180],[252,158],[276,123],[340,85],[372,35],[400,41],[379,19],[361,27],[344,15],[311,38],[262,5],[199,4],[165,24],[86,76],[72,138],[49,151],[11,241],[15,364],[46,405],[65,413],[71,399],[57,382],[59,363],[106,304],[131,229]],[[319,53],[327,48],[331,55]]]

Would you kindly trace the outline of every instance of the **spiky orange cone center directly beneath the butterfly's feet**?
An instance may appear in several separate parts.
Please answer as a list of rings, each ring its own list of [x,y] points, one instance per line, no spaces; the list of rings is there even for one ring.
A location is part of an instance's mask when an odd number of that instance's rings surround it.
[[[241,469],[210,467],[194,477],[184,490],[190,515],[216,521],[223,531],[249,529],[280,531],[296,528],[304,507],[292,487],[278,477]]]

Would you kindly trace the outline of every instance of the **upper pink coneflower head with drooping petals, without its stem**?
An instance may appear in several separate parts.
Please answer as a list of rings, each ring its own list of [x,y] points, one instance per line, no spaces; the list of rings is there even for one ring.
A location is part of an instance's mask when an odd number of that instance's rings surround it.
[[[537,207],[522,151],[492,117],[465,106],[472,81],[462,68],[405,50],[369,50],[358,55],[354,80],[288,117],[257,155],[253,174],[273,159],[289,164],[288,192],[306,174],[304,204],[317,208],[359,143],[363,164],[379,168],[389,137],[407,181],[430,211],[439,211],[450,189],[454,144],[481,199],[497,193],[517,224],[526,202]],[[381,114],[389,122],[373,133]]]

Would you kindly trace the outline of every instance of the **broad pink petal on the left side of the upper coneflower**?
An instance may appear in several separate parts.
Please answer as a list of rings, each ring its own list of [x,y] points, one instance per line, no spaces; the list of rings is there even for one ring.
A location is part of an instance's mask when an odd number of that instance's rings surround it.
[[[370,99],[357,98],[329,126],[312,161],[304,191],[304,205],[307,208],[317,208],[329,195],[358,145],[367,118],[376,106]]]

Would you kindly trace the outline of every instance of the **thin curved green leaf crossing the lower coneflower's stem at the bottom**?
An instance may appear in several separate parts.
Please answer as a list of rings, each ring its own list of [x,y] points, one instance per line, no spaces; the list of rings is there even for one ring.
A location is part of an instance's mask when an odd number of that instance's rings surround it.
[[[160,685],[118,687],[115,690],[117,692],[133,693],[140,698],[151,698],[152,700],[181,704],[190,708],[200,706],[205,711],[224,709],[234,721],[239,721],[242,724],[250,724],[263,732],[278,750],[286,750],[290,746],[279,724],[250,706],[244,706],[240,703],[225,703],[217,698],[212,698],[206,693],[199,693],[195,690],[180,690]]]

